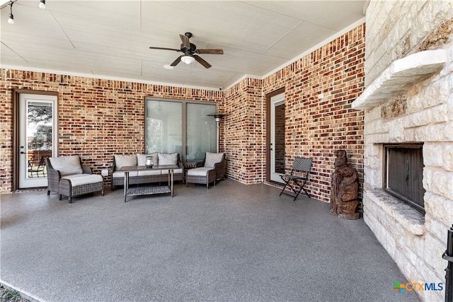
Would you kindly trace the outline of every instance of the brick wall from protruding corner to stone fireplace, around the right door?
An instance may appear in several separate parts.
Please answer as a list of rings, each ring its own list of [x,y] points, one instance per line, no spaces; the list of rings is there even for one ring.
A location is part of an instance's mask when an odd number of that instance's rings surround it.
[[[345,149],[359,173],[362,197],[363,112],[350,104],[364,87],[364,58],[365,24],[263,80],[245,79],[227,90],[224,108],[230,115],[222,147],[229,154],[229,178],[265,181],[265,96],[285,88],[287,169],[295,156],[313,158],[308,190],[328,202],[333,151]]]

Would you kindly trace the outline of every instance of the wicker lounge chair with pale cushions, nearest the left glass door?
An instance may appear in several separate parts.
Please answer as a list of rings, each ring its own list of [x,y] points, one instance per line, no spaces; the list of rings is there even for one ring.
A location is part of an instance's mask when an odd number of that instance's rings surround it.
[[[79,156],[46,158],[47,195],[50,191],[67,196],[69,203],[72,197],[101,191],[104,195],[104,180],[101,175],[84,167]]]

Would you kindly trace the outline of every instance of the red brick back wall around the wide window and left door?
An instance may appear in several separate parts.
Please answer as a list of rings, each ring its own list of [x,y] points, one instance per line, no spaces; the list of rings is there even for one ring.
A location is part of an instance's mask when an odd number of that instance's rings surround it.
[[[100,173],[115,153],[144,152],[147,96],[222,102],[223,91],[178,88],[79,76],[1,69],[0,192],[11,192],[13,175],[13,90],[58,93],[58,153],[78,154]]]

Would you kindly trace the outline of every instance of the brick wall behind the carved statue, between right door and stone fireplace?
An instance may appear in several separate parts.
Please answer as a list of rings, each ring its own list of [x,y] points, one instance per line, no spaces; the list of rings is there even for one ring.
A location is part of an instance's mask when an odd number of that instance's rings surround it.
[[[330,201],[335,156],[345,149],[348,161],[363,182],[363,112],[351,103],[363,90],[365,24],[307,54],[263,80],[263,95],[285,88],[286,167],[296,156],[314,159],[316,199]]]

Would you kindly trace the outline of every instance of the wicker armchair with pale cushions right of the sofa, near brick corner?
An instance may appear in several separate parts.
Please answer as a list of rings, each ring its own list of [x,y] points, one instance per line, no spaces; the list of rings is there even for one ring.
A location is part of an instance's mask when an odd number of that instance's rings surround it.
[[[225,179],[225,153],[207,152],[205,161],[197,163],[197,168],[187,171],[186,185],[198,183],[206,185],[209,189],[210,183]]]

